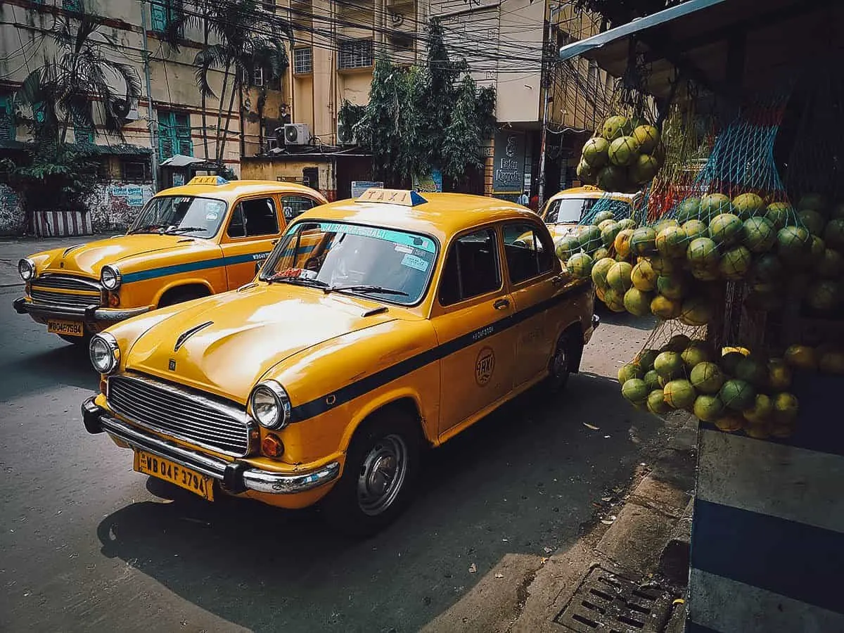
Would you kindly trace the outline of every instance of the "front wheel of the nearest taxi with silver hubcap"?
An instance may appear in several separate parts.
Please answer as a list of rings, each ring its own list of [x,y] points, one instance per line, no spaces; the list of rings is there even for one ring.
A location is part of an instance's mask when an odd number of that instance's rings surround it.
[[[359,537],[387,527],[414,495],[421,443],[418,421],[401,408],[367,419],[349,443],[343,474],[322,501],[328,522]]]

